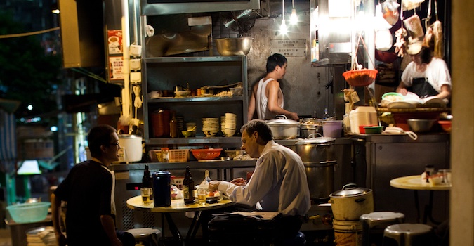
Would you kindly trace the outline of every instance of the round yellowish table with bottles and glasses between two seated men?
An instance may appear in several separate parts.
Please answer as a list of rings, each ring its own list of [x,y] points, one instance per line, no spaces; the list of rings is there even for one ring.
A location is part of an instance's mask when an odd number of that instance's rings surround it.
[[[191,205],[185,205],[183,199],[177,199],[177,200],[171,200],[171,206],[169,207],[154,207],[153,203],[150,205],[143,205],[141,195],[137,195],[133,198],[129,198],[129,200],[126,201],[126,206],[129,207],[130,209],[134,209],[137,211],[162,213],[164,217],[166,218],[166,221],[168,221],[169,230],[173,234],[173,237],[176,239],[176,241],[180,242],[180,244],[183,244],[183,239],[170,213],[196,212],[195,216],[192,219],[190,228],[187,231],[187,235],[185,238],[185,241],[187,242],[195,238],[197,229],[199,228],[199,224],[202,223],[201,221],[202,212],[209,211],[212,209],[220,209],[223,207],[229,207],[232,205],[235,205],[235,203],[227,198],[219,199],[215,203],[206,203],[205,205],[199,205],[197,203],[194,203]],[[163,231],[162,233],[164,234],[164,228],[162,229],[162,231]]]

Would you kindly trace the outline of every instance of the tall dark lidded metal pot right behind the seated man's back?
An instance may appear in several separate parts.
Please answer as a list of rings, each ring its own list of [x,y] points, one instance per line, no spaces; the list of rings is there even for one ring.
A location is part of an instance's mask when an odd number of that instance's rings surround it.
[[[314,137],[319,136],[319,137]],[[329,200],[334,191],[334,138],[310,134],[308,139],[296,142],[296,153],[305,165],[311,200],[316,203]]]

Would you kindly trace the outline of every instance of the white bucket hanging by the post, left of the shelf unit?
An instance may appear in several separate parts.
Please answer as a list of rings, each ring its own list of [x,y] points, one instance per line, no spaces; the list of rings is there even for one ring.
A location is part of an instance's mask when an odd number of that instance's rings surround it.
[[[142,160],[141,136],[119,134],[119,145],[119,162],[140,162]]]

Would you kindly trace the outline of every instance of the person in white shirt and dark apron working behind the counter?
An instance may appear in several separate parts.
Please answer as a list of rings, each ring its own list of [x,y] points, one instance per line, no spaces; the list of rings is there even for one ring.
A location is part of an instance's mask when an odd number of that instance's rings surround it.
[[[397,92],[407,95],[411,91],[420,98],[436,96],[449,99],[451,95],[451,75],[445,60],[432,56],[430,48],[423,47],[421,41],[408,45],[410,62],[402,74]]]

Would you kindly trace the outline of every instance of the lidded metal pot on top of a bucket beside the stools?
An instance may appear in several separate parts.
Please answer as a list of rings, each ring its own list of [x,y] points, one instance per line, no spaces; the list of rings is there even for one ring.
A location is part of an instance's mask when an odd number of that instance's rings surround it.
[[[362,214],[374,212],[374,195],[369,188],[360,188],[348,183],[329,195],[334,219],[341,221],[359,220]]]

